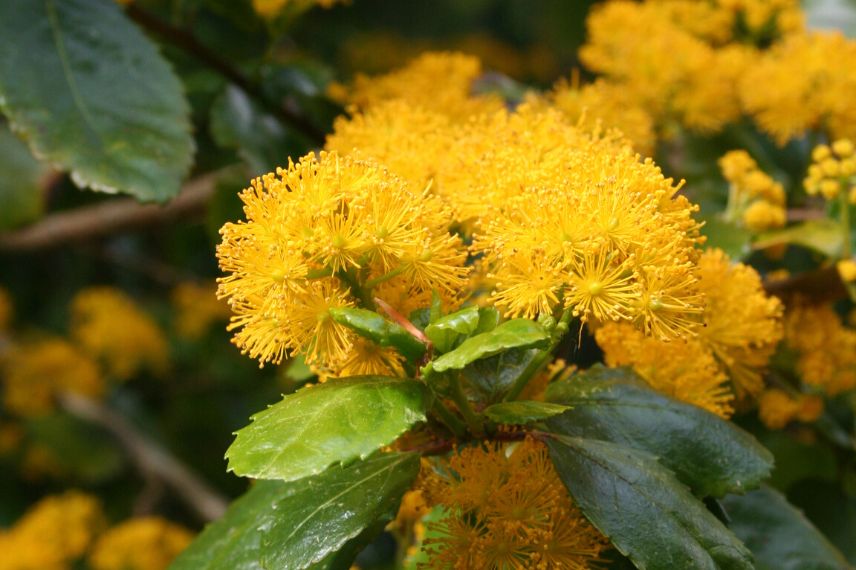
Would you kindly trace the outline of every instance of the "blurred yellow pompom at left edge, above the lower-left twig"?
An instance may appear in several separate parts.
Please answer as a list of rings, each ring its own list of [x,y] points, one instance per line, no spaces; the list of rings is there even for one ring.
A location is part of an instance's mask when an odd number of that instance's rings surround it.
[[[62,339],[14,346],[3,361],[3,372],[3,402],[7,409],[23,416],[50,412],[61,392],[90,398],[104,395],[98,366]]]

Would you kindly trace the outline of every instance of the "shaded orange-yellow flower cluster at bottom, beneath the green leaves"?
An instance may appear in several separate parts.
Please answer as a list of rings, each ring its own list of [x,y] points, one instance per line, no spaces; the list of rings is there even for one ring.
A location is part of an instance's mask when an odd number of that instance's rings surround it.
[[[594,568],[607,548],[573,505],[543,444],[469,447],[426,478],[429,503],[448,515],[423,548],[423,568]]]

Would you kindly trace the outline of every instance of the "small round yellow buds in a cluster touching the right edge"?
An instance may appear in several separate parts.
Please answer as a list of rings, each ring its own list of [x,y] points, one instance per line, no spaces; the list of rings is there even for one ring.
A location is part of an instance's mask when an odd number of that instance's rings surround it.
[[[850,139],[839,139],[831,148],[825,144],[811,152],[812,164],[808,167],[803,186],[809,195],[820,194],[827,200],[836,199],[847,192],[847,200],[856,204],[856,149]]]

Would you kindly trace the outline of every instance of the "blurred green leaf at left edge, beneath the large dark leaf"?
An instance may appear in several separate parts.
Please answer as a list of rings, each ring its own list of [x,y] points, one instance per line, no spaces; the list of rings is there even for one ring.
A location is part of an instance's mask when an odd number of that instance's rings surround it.
[[[41,183],[50,168],[0,122],[0,230],[32,222],[42,213]]]

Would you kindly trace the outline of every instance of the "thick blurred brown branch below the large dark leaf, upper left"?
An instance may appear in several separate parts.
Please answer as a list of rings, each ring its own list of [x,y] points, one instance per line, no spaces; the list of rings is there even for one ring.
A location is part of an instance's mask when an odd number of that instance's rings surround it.
[[[128,198],[51,214],[32,226],[0,234],[0,251],[47,249],[202,212],[214,193],[214,179],[209,174],[191,180],[163,206]]]

